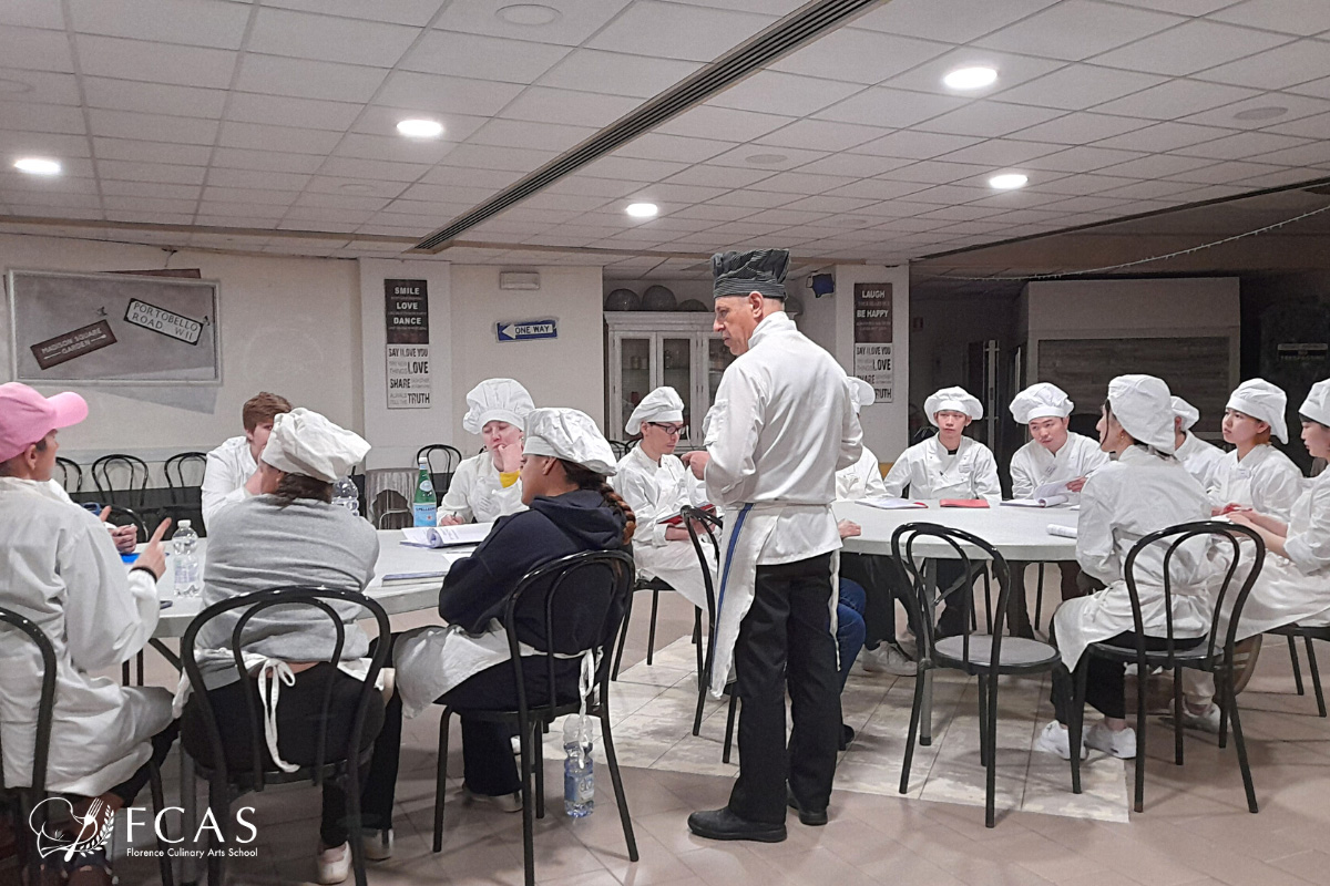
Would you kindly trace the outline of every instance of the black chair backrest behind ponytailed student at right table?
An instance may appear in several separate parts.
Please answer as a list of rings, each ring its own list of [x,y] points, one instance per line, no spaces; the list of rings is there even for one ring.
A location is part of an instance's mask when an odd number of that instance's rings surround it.
[[[1265,542],[1261,541],[1261,534],[1246,526],[1240,526],[1237,523],[1229,523],[1216,519],[1201,519],[1190,523],[1178,523],[1177,526],[1169,526],[1161,529],[1156,533],[1142,537],[1138,542],[1132,545],[1132,550],[1127,554],[1127,562],[1123,565],[1123,578],[1127,580],[1127,592],[1132,600],[1132,622],[1136,628],[1137,638],[1137,658],[1138,663],[1145,662],[1145,624],[1141,615],[1141,596],[1140,588],[1137,587],[1136,575],[1136,559],[1142,551],[1145,551],[1152,545],[1166,545],[1168,549],[1164,551],[1164,626],[1165,626],[1165,648],[1168,655],[1168,667],[1173,667],[1174,656],[1174,638],[1173,638],[1173,575],[1172,566],[1173,558],[1178,555],[1178,549],[1186,542],[1194,538],[1208,538],[1208,546],[1228,546],[1230,558],[1228,569],[1224,571],[1224,583],[1220,586],[1218,592],[1210,592],[1205,590],[1206,596],[1213,600],[1214,610],[1210,615],[1210,628],[1209,639],[1205,644],[1206,658],[1214,656],[1216,642],[1222,643],[1224,648],[1229,652],[1233,651],[1234,635],[1238,630],[1238,619],[1242,616],[1242,607],[1246,604],[1248,596],[1252,594],[1252,586],[1256,584],[1257,576],[1261,574],[1261,567],[1265,565]],[[1252,557],[1252,569],[1242,582],[1242,587],[1238,590],[1237,600],[1233,603],[1233,611],[1229,616],[1229,630],[1224,638],[1218,636],[1220,618],[1222,615],[1224,599],[1229,592],[1229,587],[1233,584],[1233,575],[1237,573],[1238,559],[1240,559],[1240,537],[1250,538],[1256,542],[1256,551]],[[1172,539],[1172,541],[1169,541]],[[1222,541],[1221,541],[1222,539]],[[1196,555],[1196,545],[1192,546],[1192,554]],[[1204,553],[1202,553],[1204,554]]]

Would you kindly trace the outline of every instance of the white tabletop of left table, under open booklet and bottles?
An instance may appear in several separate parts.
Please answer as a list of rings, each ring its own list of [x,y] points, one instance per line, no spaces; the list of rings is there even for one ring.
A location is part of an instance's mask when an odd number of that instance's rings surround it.
[[[207,557],[207,539],[201,538],[198,545],[200,563],[202,565]],[[402,543],[400,530],[380,529],[379,561],[374,565],[374,580],[370,582],[366,594],[378,600],[388,615],[432,610],[439,606],[442,578],[431,578],[414,584],[392,584],[384,588],[383,576],[398,573],[446,573],[452,563],[473,550],[473,547],[439,550],[411,547]],[[181,599],[176,596],[169,551],[170,546],[168,545],[166,574],[157,582],[157,599],[170,600],[172,604],[162,610],[161,619],[157,622],[157,631],[153,632],[153,636],[157,638],[184,636],[185,628],[200,612],[200,598]]]

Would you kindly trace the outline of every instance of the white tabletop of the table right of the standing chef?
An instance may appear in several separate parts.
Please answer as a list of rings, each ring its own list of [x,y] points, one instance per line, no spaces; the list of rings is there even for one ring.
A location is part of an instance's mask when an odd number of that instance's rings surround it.
[[[924,499],[920,499],[924,501]],[[891,533],[903,523],[936,523],[974,533],[1009,561],[1072,561],[1076,539],[1049,535],[1048,525],[1076,526],[1077,511],[1063,507],[940,507],[924,501],[927,509],[882,510],[858,502],[837,502],[837,519],[851,519],[863,534],[845,539],[850,554],[891,554]],[[920,538],[914,547],[920,557],[955,558],[946,542]],[[971,551],[967,551],[971,553]]]

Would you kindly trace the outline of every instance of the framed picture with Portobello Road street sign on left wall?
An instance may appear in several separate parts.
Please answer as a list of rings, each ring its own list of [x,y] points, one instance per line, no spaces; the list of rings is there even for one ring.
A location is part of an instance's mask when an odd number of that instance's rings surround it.
[[[217,280],[11,270],[13,377],[219,385]]]

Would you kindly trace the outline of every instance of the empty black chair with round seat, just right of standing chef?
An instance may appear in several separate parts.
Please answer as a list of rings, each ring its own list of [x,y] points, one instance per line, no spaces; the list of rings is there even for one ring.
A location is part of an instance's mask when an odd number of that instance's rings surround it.
[[[940,541],[951,547],[956,559],[964,567],[960,575],[950,587],[942,588],[934,595],[932,582],[924,567],[920,567],[915,558],[915,543],[920,539]],[[998,607],[994,610],[991,595],[987,592],[987,570],[983,561],[971,558],[974,549],[992,566],[992,573],[998,580]],[[914,707],[910,711],[910,732],[906,736],[906,757],[900,772],[900,793],[910,792],[910,764],[914,760],[915,736],[919,732],[919,720],[924,708],[924,696],[928,691],[926,680],[927,672],[934,668],[951,668],[979,677],[979,761],[987,768],[987,785],[984,793],[984,825],[992,828],[994,792],[996,786],[996,743],[998,743],[998,677],[1009,673],[1040,673],[1052,671],[1059,662],[1057,650],[1048,643],[1029,640],[1019,636],[1003,636],[1003,619],[1007,616],[1007,600],[1011,595],[1012,580],[1007,567],[1007,561],[998,549],[984,539],[948,526],[935,523],[906,523],[898,526],[891,534],[891,557],[907,576],[911,586],[902,603],[907,611],[914,610],[912,622],[918,626],[916,639],[919,651],[915,656],[916,676],[914,691]],[[979,634],[974,624],[974,580],[978,573],[986,576],[986,634]],[[967,630],[956,636],[935,638],[934,612],[939,603],[943,603],[954,594],[960,594],[960,602],[966,611],[964,624]],[[1075,756],[1075,754],[1073,754]]]

